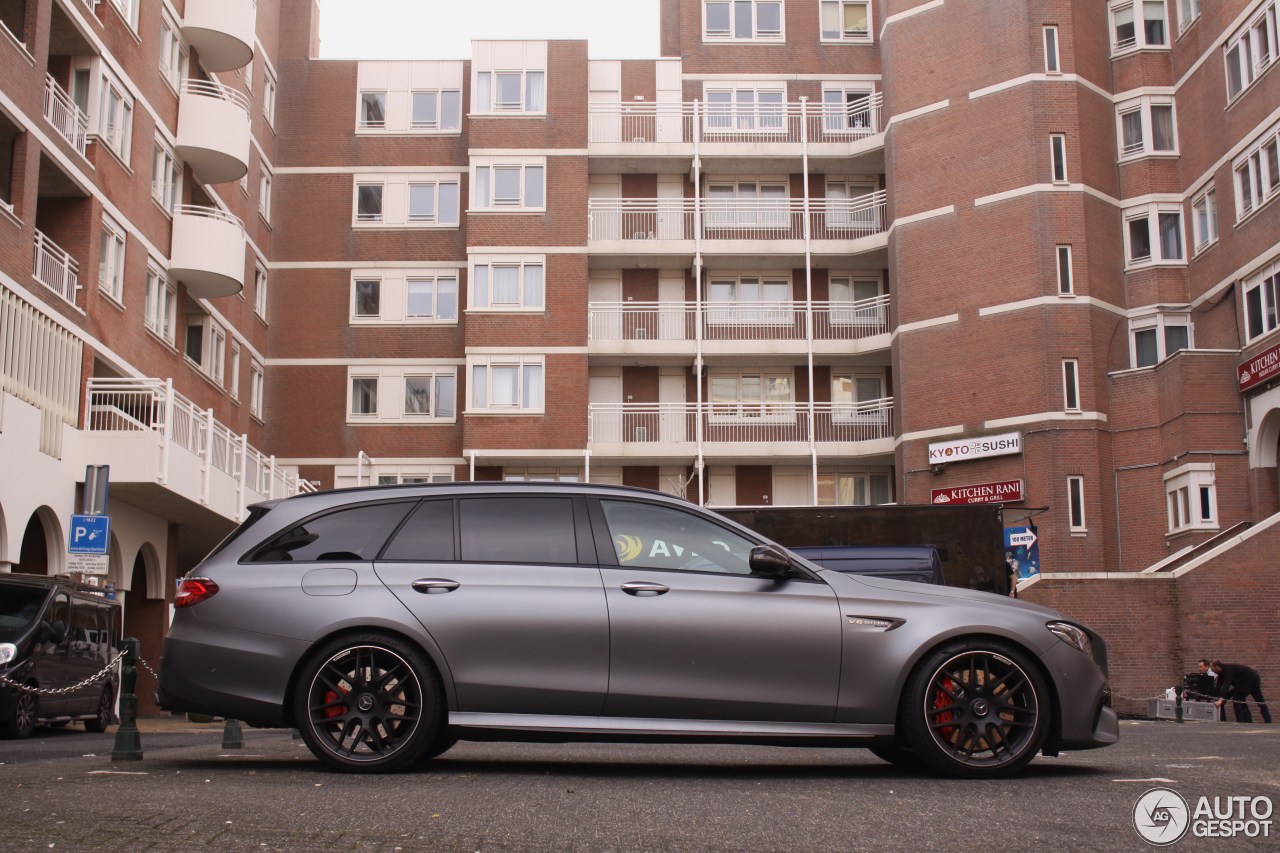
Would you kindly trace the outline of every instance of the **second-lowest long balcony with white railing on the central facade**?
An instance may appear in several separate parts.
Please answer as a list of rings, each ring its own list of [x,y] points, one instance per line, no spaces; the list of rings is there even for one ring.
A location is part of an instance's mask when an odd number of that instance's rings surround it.
[[[813,302],[814,350],[856,353],[888,347],[888,304],[887,295]],[[712,355],[760,352],[762,343],[777,345],[772,348],[778,352],[804,352],[808,321],[804,302],[591,302],[588,343],[593,353],[691,353],[701,324],[703,348]],[[823,347],[824,342],[837,346]]]

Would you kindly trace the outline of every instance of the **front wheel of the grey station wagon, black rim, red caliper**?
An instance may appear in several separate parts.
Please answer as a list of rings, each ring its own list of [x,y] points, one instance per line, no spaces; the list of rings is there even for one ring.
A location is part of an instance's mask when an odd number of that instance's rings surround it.
[[[997,779],[1036,757],[1052,706],[1030,660],[998,640],[950,643],[908,679],[901,719],[906,745],[933,770]]]

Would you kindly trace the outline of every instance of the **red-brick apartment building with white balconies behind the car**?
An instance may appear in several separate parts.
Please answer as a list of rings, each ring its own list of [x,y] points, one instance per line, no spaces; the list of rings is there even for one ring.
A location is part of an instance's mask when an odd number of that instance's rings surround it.
[[[1277,0],[660,5],[347,61],[314,0],[0,0],[0,569],[111,465],[154,658],[300,489],[1002,484],[1121,710],[1280,676]]]

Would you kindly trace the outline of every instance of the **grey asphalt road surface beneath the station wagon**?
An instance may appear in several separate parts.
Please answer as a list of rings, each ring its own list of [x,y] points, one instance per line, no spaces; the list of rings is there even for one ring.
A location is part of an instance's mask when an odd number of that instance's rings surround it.
[[[1133,813],[1152,788],[1192,809],[1280,802],[1280,727],[1263,725],[1125,721],[1117,745],[992,783],[861,749],[480,743],[351,776],[288,731],[223,749],[220,724],[142,730],[140,762],[111,762],[114,735],[79,726],[0,740],[0,850],[1147,850]],[[1188,833],[1170,849],[1280,840]]]

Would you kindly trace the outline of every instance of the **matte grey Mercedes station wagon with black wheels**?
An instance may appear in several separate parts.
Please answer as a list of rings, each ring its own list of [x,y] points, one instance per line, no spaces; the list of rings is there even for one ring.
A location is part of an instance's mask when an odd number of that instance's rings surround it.
[[[252,507],[183,580],[156,699],[385,772],[462,740],[863,747],[961,777],[1115,743],[1102,639],[828,571],[646,489],[457,483]]]

